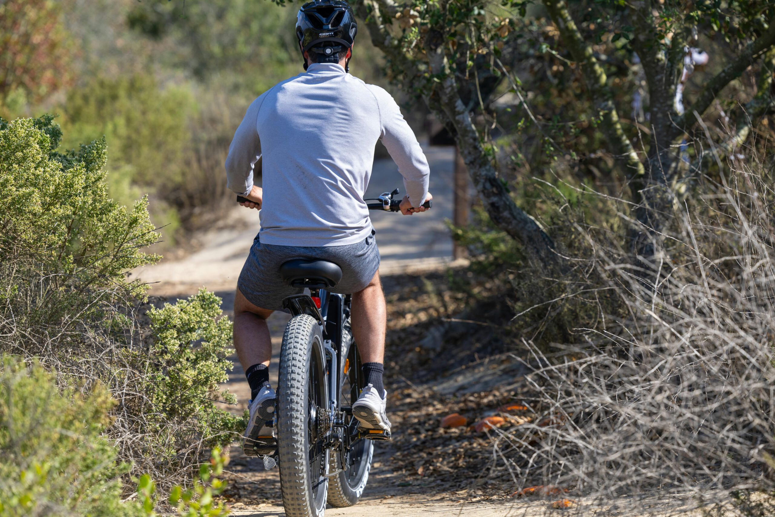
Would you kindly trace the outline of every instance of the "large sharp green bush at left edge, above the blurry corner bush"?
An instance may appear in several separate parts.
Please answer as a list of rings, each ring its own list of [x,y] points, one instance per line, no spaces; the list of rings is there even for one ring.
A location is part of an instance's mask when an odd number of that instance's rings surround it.
[[[141,295],[125,271],[158,258],[140,251],[158,238],[146,199],[127,210],[108,198],[105,140],[57,153],[60,137],[51,117],[0,119],[0,319],[58,322],[58,341],[74,319],[102,318],[108,298]]]

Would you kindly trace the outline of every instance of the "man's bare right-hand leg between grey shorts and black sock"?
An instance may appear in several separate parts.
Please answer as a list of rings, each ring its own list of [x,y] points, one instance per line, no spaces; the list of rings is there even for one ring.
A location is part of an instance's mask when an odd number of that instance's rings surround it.
[[[383,363],[387,309],[379,271],[363,291],[353,295],[351,319],[360,360],[363,363]]]

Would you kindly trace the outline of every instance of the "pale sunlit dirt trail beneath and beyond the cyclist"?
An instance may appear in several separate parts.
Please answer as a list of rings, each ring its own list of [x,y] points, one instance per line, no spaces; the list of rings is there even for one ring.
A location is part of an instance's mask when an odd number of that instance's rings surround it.
[[[381,273],[390,275],[405,271],[430,271],[451,262],[452,241],[445,220],[452,216],[453,152],[449,149],[426,150],[432,167],[430,190],[434,207],[423,215],[401,216],[393,213],[372,214],[377,229],[377,243],[382,257]],[[376,197],[383,191],[402,188],[401,177],[391,160],[377,160],[367,195]],[[422,217],[422,219],[418,219]],[[422,224],[420,224],[422,222]],[[153,267],[135,271],[143,281],[153,282],[151,295],[170,299],[184,298],[205,287],[223,298],[222,307],[231,315],[236,278],[258,230],[258,213],[236,206],[226,219],[214,228],[196,236],[198,251],[181,260],[165,260]],[[288,315],[274,313],[270,318],[273,336],[273,361],[270,378],[277,383],[277,359]],[[238,404],[230,411],[242,412],[250,398],[239,362],[229,374],[229,391]],[[455,494],[436,494],[391,470],[390,444],[377,447],[374,467],[363,500],[354,508],[329,508],[326,515],[508,515],[501,506],[481,505],[461,500]],[[263,471],[257,460],[245,457],[239,447],[232,448],[232,489],[229,498],[235,515],[269,517],[284,515],[281,506],[277,470]],[[462,512],[461,512],[462,510]]]

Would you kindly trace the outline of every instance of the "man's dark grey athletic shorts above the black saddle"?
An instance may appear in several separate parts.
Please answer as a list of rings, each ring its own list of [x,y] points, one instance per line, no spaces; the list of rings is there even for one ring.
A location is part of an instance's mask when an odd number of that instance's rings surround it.
[[[283,298],[304,292],[285,284],[280,277],[280,266],[293,259],[328,260],[341,267],[342,281],[328,289],[340,295],[351,295],[366,288],[380,267],[374,231],[360,243],[325,247],[262,244],[256,236],[239,274],[237,288],[253,305],[284,310]]]

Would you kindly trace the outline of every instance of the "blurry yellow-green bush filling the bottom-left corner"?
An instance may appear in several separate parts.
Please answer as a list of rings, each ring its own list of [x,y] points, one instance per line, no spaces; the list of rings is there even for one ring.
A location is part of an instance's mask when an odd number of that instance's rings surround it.
[[[102,436],[110,393],[60,393],[54,374],[14,357],[0,367],[0,515],[141,515],[120,502],[129,467]]]

